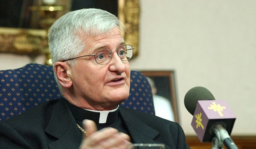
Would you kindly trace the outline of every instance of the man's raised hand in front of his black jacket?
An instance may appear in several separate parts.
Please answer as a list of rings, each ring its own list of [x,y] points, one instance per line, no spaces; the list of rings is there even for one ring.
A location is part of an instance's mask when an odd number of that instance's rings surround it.
[[[92,120],[84,120],[83,127],[87,135],[79,149],[126,149],[130,143],[130,137],[117,129],[107,127],[97,131]]]

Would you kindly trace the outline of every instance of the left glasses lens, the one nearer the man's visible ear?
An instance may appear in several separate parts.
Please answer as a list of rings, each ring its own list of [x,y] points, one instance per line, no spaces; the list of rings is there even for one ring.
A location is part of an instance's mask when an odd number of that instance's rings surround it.
[[[111,60],[111,50],[102,49],[95,53],[95,60],[98,64],[106,64]]]

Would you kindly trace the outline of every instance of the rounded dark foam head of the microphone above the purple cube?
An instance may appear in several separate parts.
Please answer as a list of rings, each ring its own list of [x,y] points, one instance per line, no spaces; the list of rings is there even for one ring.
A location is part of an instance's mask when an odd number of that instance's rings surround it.
[[[186,109],[192,115],[194,115],[198,100],[215,100],[215,98],[212,93],[204,87],[197,86],[190,89],[185,95],[184,103]]]

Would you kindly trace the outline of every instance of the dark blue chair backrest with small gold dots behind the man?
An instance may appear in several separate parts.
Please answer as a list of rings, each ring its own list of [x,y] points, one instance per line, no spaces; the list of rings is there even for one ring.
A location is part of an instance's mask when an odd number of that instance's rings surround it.
[[[0,71],[0,121],[61,97],[52,66],[30,63]],[[154,115],[151,87],[140,72],[131,71],[130,96],[120,106]]]

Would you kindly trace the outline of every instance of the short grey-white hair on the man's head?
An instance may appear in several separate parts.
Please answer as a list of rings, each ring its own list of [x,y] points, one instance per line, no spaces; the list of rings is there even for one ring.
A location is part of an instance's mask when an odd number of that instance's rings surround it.
[[[53,66],[84,50],[86,45],[79,34],[96,36],[110,32],[114,27],[125,29],[115,15],[101,9],[79,9],[63,15],[53,23],[48,34]]]

